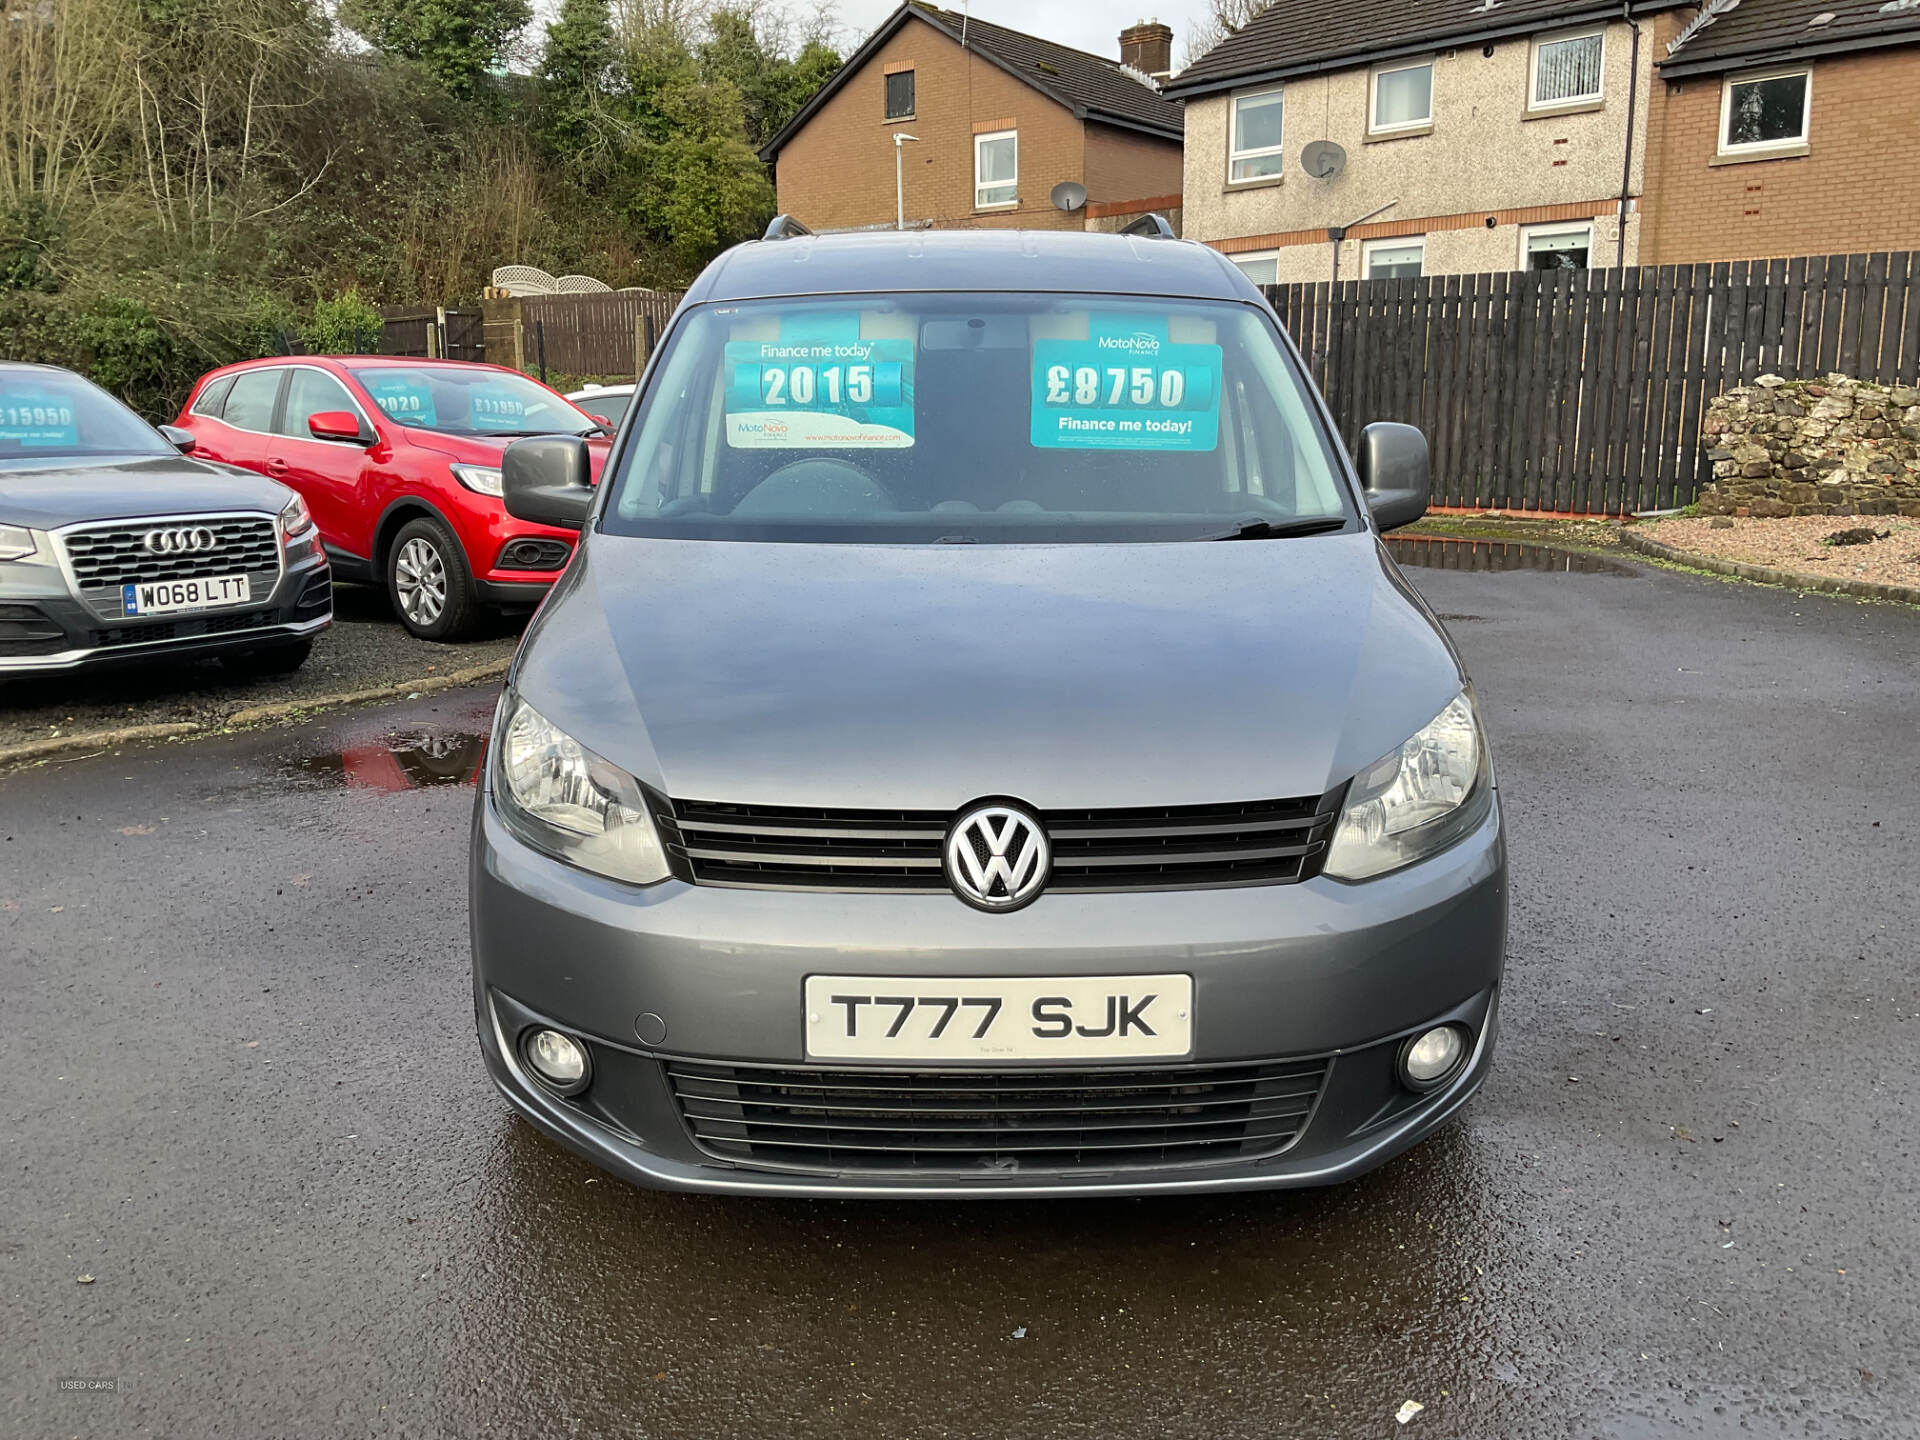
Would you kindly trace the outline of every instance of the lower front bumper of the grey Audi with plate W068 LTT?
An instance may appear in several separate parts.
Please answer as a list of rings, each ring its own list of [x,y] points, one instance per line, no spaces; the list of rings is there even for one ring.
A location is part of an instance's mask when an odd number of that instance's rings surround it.
[[[108,620],[54,566],[0,574],[0,678],[196,659],[286,645],[334,616],[332,570],[319,545],[290,551],[273,591],[244,607]]]

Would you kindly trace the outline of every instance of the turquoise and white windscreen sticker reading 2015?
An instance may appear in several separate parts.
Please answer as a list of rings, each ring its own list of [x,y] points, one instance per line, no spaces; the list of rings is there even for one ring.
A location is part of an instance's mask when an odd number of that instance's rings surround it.
[[[912,340],[751,340],[726,348],[733,449],[906,449]]]

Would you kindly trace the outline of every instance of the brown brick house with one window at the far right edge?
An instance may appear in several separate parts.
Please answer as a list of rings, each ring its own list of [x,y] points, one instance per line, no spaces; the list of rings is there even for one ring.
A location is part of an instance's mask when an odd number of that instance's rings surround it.
[[[1920,0],[1686,13],[1657,56],[1642,259],[1920,250]]]

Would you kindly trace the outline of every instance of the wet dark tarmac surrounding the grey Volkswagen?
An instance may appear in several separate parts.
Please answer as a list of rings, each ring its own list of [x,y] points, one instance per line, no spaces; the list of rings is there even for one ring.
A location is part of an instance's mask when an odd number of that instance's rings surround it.
[[[486,693],[0,778],[0,1432],[1914,1434],[1920,616],[1413,580],[1500,764],[1503,1037],[1336,1190],[597,1173],[472,1039]]]

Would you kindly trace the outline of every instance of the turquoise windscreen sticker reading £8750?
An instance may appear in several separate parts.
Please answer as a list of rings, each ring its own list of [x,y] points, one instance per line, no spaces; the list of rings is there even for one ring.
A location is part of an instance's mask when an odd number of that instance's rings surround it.
[[[1033,346],[1033,432],[1043,449],[1213,449],[1219,346],[1150,332]]]

